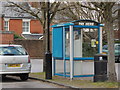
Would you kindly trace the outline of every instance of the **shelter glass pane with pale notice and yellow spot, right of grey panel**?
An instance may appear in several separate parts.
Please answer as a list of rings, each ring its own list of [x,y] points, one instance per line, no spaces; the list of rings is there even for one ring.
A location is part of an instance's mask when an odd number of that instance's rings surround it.
[[[94,57],[98,53],[98,30],[83,28],[83,57]]]

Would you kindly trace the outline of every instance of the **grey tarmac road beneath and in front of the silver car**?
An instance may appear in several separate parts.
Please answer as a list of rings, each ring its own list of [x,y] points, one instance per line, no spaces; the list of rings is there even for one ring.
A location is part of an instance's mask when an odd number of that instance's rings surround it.
[[[19,77],[7,76],[0,82],[2,88],[65,88],[52,83],[31,80],[21,81]]]

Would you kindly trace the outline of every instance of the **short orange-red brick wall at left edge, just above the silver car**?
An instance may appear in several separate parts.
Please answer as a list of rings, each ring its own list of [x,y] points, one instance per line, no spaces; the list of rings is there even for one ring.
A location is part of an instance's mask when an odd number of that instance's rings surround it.
[[[9,44],[14,40],[13,32],[0,31],[0,44]]]

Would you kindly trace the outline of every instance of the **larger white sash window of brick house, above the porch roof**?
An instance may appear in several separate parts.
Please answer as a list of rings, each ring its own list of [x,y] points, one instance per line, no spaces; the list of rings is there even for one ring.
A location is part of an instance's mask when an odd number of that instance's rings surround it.
[[[23,20],[23,34],[30,34],[30,20]]]

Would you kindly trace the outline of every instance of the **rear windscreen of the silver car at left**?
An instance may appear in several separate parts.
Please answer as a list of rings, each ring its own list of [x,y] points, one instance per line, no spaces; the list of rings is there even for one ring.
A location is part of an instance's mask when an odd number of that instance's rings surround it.
[[[4,46],[0,47],[0,55],[27,55],[27,52],[22,47]]]

